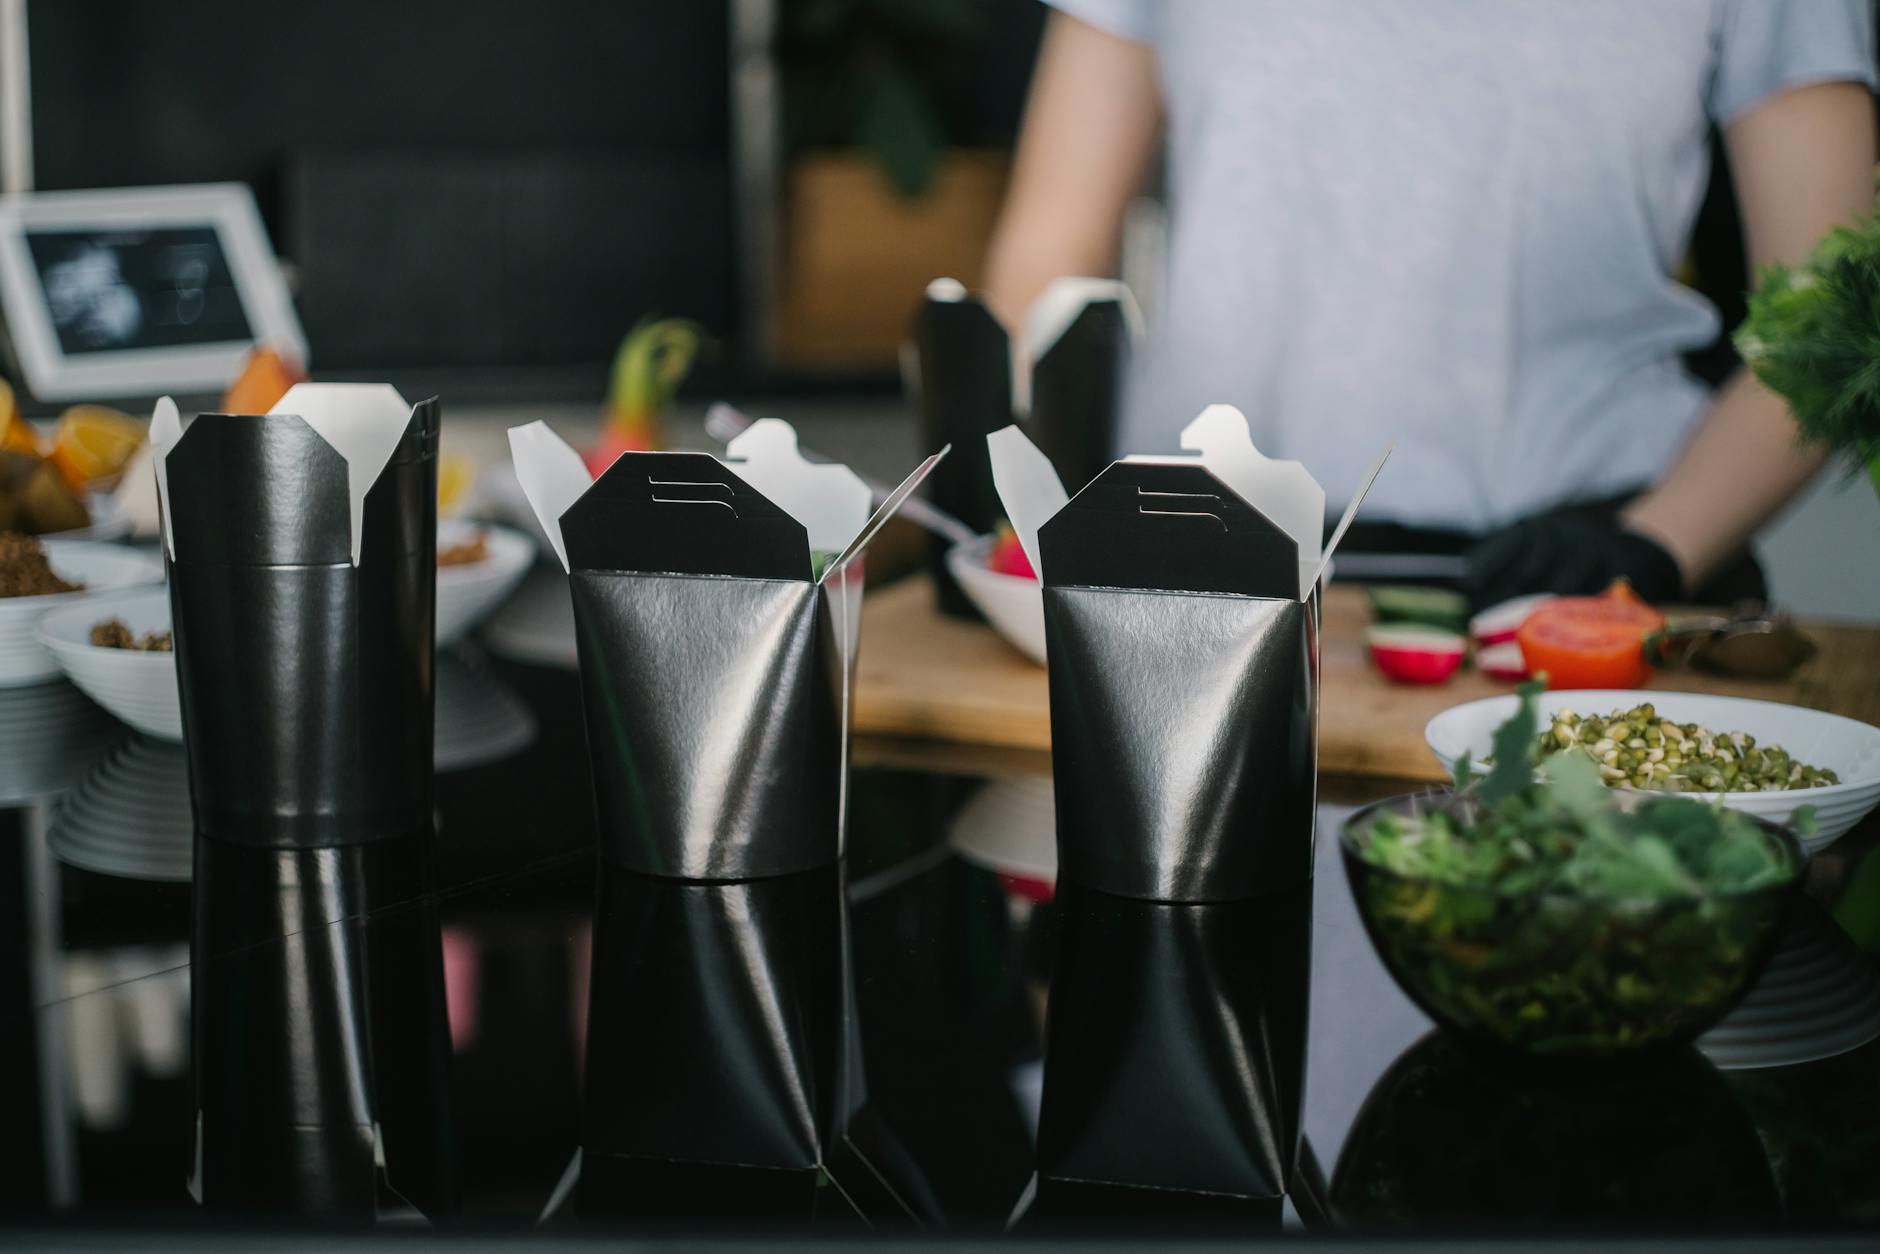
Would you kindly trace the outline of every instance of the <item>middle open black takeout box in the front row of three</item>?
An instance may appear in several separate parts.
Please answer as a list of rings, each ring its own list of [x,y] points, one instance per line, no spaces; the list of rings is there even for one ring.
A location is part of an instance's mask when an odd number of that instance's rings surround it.
[[[588,483],[541,423],[517,478],[568,568],[602,850],[622,870],[741,880],[840,855],[869,515],[788,423],[707,453],[626,453]]]

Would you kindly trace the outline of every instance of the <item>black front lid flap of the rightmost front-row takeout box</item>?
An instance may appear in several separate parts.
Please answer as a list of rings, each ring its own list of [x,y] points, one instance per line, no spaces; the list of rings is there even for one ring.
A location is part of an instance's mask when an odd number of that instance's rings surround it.
[[[1113,462],[1038,549],[1045,585],[1299,600],[1299,545],[1203,466]]]

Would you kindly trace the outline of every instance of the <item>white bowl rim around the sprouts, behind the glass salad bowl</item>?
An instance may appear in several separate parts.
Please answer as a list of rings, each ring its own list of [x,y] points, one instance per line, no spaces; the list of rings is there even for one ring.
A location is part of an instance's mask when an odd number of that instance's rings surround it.
[[[1463,756],[1463,750],[1468,750],[1476,761],[1491,752],[1495,728],[1508,722],[1517,701],[1515,696],[1504,696],[1455,705],[1429,720],[1423,739],[1442,761],[1442,769],[1453,773],[1455,760]],[[1607,714],[1615,709],[1630,709],[1639,701],[1651,701],[1671,722],[1694,722],[1713,731],[1747,731],[1756,737],[1758,745],[1780,745],[1799,761],[1833,771],[1841,782],[1827,788],[1795,788],[1775,793],[1677,793],[1701,801],[1722,801],[1731,810],[1784,825],[1799,807],[1812,805],[1816,831],[1812,837],[1797,837],[1810,854],[1846,833],[1880,803],[1880,728],[1841,714],[1824,714],[1775,701],[1700,692],[1658,692],[1654,688],[1543,692],[1540,709],[1542,714],[1553,714],[1560,709]]]

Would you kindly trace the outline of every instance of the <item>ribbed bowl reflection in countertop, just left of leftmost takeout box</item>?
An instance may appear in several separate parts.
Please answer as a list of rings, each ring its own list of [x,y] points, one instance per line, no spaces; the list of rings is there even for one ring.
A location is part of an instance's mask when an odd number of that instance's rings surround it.
[[[128,880],[188,880],[196,852],[180,745],[126,737],[60,799],[45,833],[53,855]]]

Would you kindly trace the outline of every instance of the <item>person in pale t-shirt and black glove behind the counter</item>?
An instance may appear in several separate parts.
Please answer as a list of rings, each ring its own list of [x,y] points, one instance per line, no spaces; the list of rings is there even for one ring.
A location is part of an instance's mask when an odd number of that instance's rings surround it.
[[[1747,372],[1683,370],[1718,314],[1673,273],[1713,126],[1752,265],[1869,211],[1867,0],[1053,6],[987,295],[1111,273],[1166,141],[1119,451],[1231,402],[1339,493],[1395,440],[1367,517],[1466,553],[1478,603],[1760,588],[1748,538],[1822,455]]]

